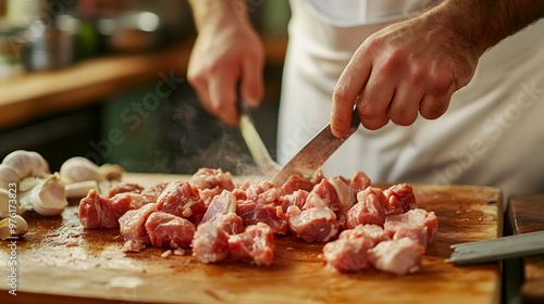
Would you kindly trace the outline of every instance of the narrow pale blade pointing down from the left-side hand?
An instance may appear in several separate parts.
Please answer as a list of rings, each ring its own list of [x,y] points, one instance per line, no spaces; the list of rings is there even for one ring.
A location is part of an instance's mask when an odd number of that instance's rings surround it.
[[[267,147],[255,128],[254,119],[249,116],[247,106],[243,103],[238,103],[238,112],[240,116],[239,129],[242,137],[244,137],[246,145],[262,175],[270,178],[280,169],[280,166],[270,156]]]

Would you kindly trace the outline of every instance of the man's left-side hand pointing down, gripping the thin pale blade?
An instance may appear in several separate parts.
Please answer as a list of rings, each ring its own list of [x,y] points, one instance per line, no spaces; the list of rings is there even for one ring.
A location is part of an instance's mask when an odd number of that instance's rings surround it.
[[[189,60],[188,81],[209,113],[237,125],[238,83],[246,104],[257,106],[262,99],[262,42],[247,20],[245,7],[237,1],[191,3],[199,33]]]

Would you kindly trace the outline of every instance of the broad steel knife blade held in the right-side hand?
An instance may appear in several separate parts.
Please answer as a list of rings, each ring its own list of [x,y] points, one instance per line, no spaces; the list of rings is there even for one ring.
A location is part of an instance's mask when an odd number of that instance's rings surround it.
[[[335,137],[331,131],[331,124],[319,131],[280,172],[271,181],[282,186],[294,174],[309,178],[359,127],[357,109],[351,113],[351,124],[347,135]]]

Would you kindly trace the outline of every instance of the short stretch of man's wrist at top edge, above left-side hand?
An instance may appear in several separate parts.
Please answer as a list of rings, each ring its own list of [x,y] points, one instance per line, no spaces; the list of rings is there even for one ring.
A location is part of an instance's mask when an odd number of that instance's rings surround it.
[[[207,25],[249,24],[245,0],[189,0],[189,4],[199,31]]]

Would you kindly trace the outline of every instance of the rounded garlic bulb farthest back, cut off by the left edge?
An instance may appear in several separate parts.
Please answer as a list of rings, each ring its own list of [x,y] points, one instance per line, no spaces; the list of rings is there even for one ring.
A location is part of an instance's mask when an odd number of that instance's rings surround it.
[[[45,178],[49,174],[49,164],[37,152],[13,151],[0,165],[0,187],[8,189],[9,183],[18,182],[25,177]]]

